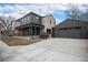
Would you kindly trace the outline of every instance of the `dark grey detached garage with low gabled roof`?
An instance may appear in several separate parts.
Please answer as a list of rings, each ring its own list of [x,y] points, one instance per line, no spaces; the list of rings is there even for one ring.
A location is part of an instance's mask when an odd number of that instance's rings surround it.
[[[67,19],[52,28],[52,36],[88,39],[88,22]]]

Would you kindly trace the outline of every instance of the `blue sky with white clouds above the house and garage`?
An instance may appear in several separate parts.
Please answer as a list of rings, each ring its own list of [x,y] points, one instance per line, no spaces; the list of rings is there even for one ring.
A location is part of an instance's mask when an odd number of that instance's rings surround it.
[[[0,14],[12,15],[19,19],[29,12],[35,12],[40,15],[52,14],[56,22],[59,23],[67,19],[65,11],[68,9],[68,4],[46,4],[46,3],[0,3]]]

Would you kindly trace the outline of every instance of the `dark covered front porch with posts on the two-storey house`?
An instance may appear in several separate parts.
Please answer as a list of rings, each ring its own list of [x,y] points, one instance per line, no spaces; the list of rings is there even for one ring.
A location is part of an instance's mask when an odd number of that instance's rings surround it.
[[[41,31],[43,30],[43,25],[30,23],[17,26],[16,30],[18,31],[17,35],[40,35]]]

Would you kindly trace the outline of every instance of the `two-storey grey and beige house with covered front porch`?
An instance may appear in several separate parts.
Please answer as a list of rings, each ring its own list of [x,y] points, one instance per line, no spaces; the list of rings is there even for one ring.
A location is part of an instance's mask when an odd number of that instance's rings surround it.
[[[51,33],[56,21],[52,15],[40,17],[33,12],[16,20],[14,30],[18,35],[40,35],[41,32]]]

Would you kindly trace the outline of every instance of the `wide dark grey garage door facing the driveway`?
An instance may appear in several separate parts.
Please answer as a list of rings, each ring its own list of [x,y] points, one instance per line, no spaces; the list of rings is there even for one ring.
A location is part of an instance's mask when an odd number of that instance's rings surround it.
[[[58,34],[61,37],[80,37],[80,29],[59,30]]]

